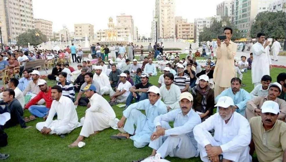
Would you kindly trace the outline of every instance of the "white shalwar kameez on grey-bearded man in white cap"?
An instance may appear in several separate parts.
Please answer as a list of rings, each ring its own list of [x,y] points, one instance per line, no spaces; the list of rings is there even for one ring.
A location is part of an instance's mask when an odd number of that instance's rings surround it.
[[[212,136],[208,131],[214,129]],[[250,162],[249,144],[251,130],[248,120],[234,112],[226,124],[219,113],[207,118],[203,123],[193,129],[195,140],[198,143],[201,160],[208,162],[205,146],[220,146],[224,159],[235,162]]]

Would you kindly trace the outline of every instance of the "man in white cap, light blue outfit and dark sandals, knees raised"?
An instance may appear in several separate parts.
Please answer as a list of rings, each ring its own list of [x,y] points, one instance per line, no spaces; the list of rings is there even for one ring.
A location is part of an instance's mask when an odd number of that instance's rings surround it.
[[[127,133],[111,136],[111,139],[130,138],[134,141],[134,146],[137,148],[144,147],[150,143],[150,137],[155,128],[154,119],[156,116],[166,114],[167,107],[160,100],[158,87],[151,86],[147,92],[149,99],[128,106],[123,111],[123,116],[117,123],[118,128],[124,126],[123,130]],[[146,115],[141,113],[140,110],[145,110]],[[136,130],[134,125],[136,125]]]

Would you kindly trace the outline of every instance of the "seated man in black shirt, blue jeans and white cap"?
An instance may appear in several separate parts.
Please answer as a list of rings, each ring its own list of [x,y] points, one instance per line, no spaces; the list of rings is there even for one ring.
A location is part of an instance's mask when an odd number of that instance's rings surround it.
[[[129,88],[129,96],[126,99],[126,108],[131,104],[133,98],[136,98],[136,102],[142,101],[148,98],[147,91],[149,90],[149,87],[152,86],[151,83],[149,83],[149,75],[147,73],[142,73],[140,75],[141,83],[135,84],[134,86]]]

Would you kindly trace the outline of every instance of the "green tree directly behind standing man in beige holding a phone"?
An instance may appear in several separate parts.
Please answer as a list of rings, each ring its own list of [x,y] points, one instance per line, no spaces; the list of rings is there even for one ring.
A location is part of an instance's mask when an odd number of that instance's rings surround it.
[[[233,30],[232,40],[239,39],[239,33],[236,26],[231,24],[228,17],[223,17],[222,21],[217,21],[215,18],[211,20],[212,24],[209,28],[204,27],[203,32],[199,34],[199,41],[211,41],[212,39],[217,39],[217,36],[223,35],[224,28],[230,27]]]

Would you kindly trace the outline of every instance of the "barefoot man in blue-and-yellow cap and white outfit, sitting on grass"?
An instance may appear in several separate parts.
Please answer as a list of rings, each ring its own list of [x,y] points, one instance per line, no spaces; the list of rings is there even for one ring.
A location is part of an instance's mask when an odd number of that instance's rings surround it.
[[[97,88],[93,84],[88,84],[83,90],[91,106],[85,111],[85,117],[80,119],[82,123],[80,136],[69,147],[77,146],[84,137],[87,138],[91,134],[96,134],[103,129],[113,127],[111,123],[116,123],[114,110],[108,104],[107,100],[97,93]]]

